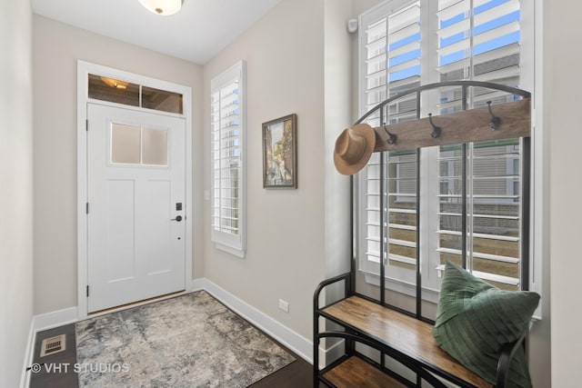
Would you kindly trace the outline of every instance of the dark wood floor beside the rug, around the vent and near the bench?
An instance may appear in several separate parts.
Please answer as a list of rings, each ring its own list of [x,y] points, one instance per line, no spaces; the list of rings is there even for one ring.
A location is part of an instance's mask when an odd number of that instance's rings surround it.
[[[40,345],[45,338],[66,334],[66,350],[61,353],[46,355],[40,358]],[[282,346],[285,348],[285,346]],[[286,349],[296,357],[296,361],[285,368],[266,376],[252,385],[251,388],[311,388],[312,366],[300,356]],[[78,376],[74,371],[76,363],[75,324],[67,324],[55,329],[36,333],[35,356],[33,363],[40,365],[40,372],[31,373],[30,388],[78,388]],[[44,364],[43,364],[44,363]],[[60,370],[53,365],[60,365]],[[68,365],[65,367],[65,365]],[[49,369],[49,371],[47,371]],[[65,371],[66,369],[66,371]]]

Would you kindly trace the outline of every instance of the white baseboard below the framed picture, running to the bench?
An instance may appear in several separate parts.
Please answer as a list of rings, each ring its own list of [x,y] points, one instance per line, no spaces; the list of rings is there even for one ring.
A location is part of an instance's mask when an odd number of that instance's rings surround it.
[[[313,343],[305,337],[295,333],[281,323],[256,310],[255,307],[242,301],[234,294],[227,292],[224,288],[212,283],[208,279],[199,279],[207,293],[212,294],[217,300],[226,304],[228,308],[239,314],[246,321],[253,323],[257,328],[267,333],[282,343],[287,348],[301,356],[308,363],[313,363]],[[196,279],[198,281],[198,279]]]

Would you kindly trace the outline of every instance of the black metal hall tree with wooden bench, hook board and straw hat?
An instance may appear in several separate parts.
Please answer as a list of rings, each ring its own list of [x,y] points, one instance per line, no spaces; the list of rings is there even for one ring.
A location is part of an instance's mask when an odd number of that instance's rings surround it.
[[[442,91],[453,93],[459,97],[457,103],[460,110],[451,113],[437,115],[427,114],[421,118],[420,104],[429,99],[421,98],[421,94],[427,91],[435,91],[442,88]],[[476,102],[472,95],[480,95],[481,98],[488,98],[493,95],[497,104],[492,105],[492,101]],[[485,96],[485,97],[484,97]],[[507,98],[506,98],[507,97]],[[437,329],[434,322],[422,315],[422,277],[420,274],[421,257],[420,250],[416,249],[416,312],[406,312],[400,310],[390,303],[386,302],[386,264],[389,257],[386,256],[388,250],[387,237],[388,231],[381,230],[383,237],[378,238],[377,251],[378,257],[378,278],[379,287],[378,300],[356,293],[356,274],[358,265],[356,264],[355,236],[357,233],[356,220],[358,214],[355,209],[355,195],[358,184],[354,180],[353,174],[364,168],[372,153],[379,153],[379,162],[376,164],[385,164],[386,152],[393,151],[410,151],[416,152],[416,160],[425,147],[457,145],[462,152],[459,160],[465,160],[460,172],[460,191],[459,211],[460,213],[460,235],[467,235],[467,152],[468,144],[478,142],[495,144],[497,141],[504,139],[519,139],[519,147],[522,153],[521,179],[520,186],[522,204],[520,207],[519,221],[522,235],[519,239],[520,251],[520,279],[527,288],[528,267],[527,258],[529,256],[529,184],[530,184],[530,164],[531,164],[531,95],[524,90],[477,81],[449,81],[430,85],[421,85],[416,88],[407,90],[401,94],[393,95],[380,104],[377,104],[360,119],[356,121],[353,127],[347,128],[340,134],[336,141],[336,151],[334,153],[334,163],[340,174],[352,175],[351,187],[352,197],[350,209],[352,214],[352,235],[351,235],[351,260],[350,272],[334,278],[328,279],[316,287],[314,293],[314,387],[319,387],[320,383],[330,387],[425,387],[433,386],[437,388],[446,388],[448,386],[460,387],[497,387],[503,388],[515,376],[512,374],[507,378],[509,367],[514,355],[516,355],[512,371],[515,368],[523,366],[523,346],[524,338],[527,333],[528,320],[524,319],[525,324],[515,325],[511,336],[502,333],[500,341],[496,338],[496,347],[501,352],[496,355],[486,354],[487,360],[478,360],[479,367],[475,363],[470,363],[471,369],[481,370],[481,366],[487,365],[487,380],[495,381],[495,384],[487,383],[485,379],[471,372],[455,358],[437,344],[443,345],[443,337],[439,336],[442,332],[442,326],[439,326],[437,316]],[[401,100],[402,99],[402,100]],[[390,104],[396,104],[399,101],[416,100],[416,120],[406,120],[398,122],[390,116]],[[470,104],[476,104],[477,107],[469,109]],[[437,109],[433,107],[432,109]],[[426,113],[423,112],[426,115]],[[366,120],[376,117],[376,123],[381,126],[371,127],[365,124]],[[395,123],[396,122],[396,123]],[[395,124],[385,124],[395,123]],[[357,148],[357,149],[356,149]],[[416,168],[416,191],[420,193],[419,168]],[[379,168],[378,183],[368,187],[368,190],[376,190],[373,194],[377,196],[378,217],[375,223],[379,228],[388,228],[389,221],[387,217],[387,190],[389,177],[386,176],[385,170]],[[376,175],[375,175],[376,176]],[[374,187],[372,189],[371,187]],[[366,193],[369,194],[369,193]],[[420,217],[423,212],[422,205],[416,197],[416,242],[420,241]],[[461,258],[462,266],[465,267],[468,256],[467,244],[461,244],[458,249],[458,255]],[[523,259],[523,262],[522,260]],[[448,264],[447,264],[448,265]],[[446,265],[446,266],[447,266]],[[461,268],[462,270],[462,268]],[[465,270],[462,270],[465,273]],[[471,275],[472,276],[472,275]],[[480,282],[480,280],[479,280]],[[489,284],[487,286],[491,287]],[[486,287],[487,287],[486,286]],[[341,288],[343,287],[343,288]],[[338,289],[342,289],[341,295],[337,296],[336,302],[326,305],[319,305],[323,291],[326,290],[326,298],[332,291],[335,295]],[[495,287],[494,287],[495,288]],[[381,291],[380,291],[381,290]],[[524,290],[525,291],[525,290]],[[441,293],[442,295],[442,293]],[[537,296],[538,297],[538,296]],[[535,298],[534,298],[535,299]],[[537,305],[537,300],[534,300]],[[439,301],[440,306],[440,301]],[[504,304],[507,306],[507,304]],[[535,307],[533,307],[535,309]],[[501,307],[503,310],[503,307]],[[437,312],[438,313],[438,312]],[[533,310],[531,311],[533,313]],[[474,318],[497,319],[490,316],[473,316]],[[321,330],[321,323],[326,324],[325,329]],[[522,322],[523,323],[523,322]],[[482,325],[483,325],[482,324]],[[329,326],[338,327],[335,330],[329,330]],[[435,329],[435,332],[433,332]],[[447,329],[448,330],[448,329]],[[521,333],[523,331],[524,333]],[[437,333],[438,332],[438,333]],[[447,332],[448,333],[448,332]],[[456,338],[461,339],[461,343],[467,345],[469,350],[478,349],[473,346],[475,343],[468,338],[470,336],[459,336],[457,332],[453,333]],[[473,334],[481,335],[481,332],[473,331]],[[437,339],[435,337],[437,335]],[[467,333],[466,333],[467,335]],[[343,340],[343,343],[335,343],[336,346],[343,346],[343,355],[333,362],[327,362],[326,365],[319,365],[319,344],[323,339]],[[484,339],[484,338],[483,338]],[[488,341],[488,340],[487,340]],[[511,343],[504,343],[511,341]],[[488,343],[487,343],[488,344]],[[448,346],[448,344],[447,344]],[[478,353],[478,352],[477,352]],[[479,353],[480,354],[480,353]],[[494,358],[499,358],[496,361]],[[464,361],[467,363],[467,360]],[[396,365],[396,366],[395,366]],[[519,366],[518,366],[519,365]],[[402,371],[405,372],[402,372]],[[406,370],[408,372],[406,372]],[[523,369],[520,369],[523,371]],[[512,372],[513,373],[513,372]],[[527,374],[527,379],[529,378]],[[512,380],[513,381],[513,380]],[[506,383],[507,382],[507,383]]]

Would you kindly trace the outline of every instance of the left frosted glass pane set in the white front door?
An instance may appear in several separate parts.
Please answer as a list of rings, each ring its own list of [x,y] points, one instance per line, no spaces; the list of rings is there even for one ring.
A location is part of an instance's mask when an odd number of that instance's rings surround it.
[[[111,124],[111,163],[140,164],[140,127]]]

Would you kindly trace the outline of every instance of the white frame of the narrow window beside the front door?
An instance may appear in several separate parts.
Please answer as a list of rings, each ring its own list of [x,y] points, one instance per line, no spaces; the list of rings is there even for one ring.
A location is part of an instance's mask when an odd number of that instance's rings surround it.
[[[220,89],[226,87],[226,85],[231,84],[233,81],[238,82],[238,149],[240,151],[239,161],[240,165],[238,167],[238,187],[237,187],[237,198],[238,198],[238,234],[227,234],[225,232],[216,230],[213,224],[213,205],[214,205],[214,193],[215,193],[215,176],[216,169],[214,168],[212,154],[213,154],[213,141],[212,141],[212,112],[213,112],[213,102],[212,95],[215,94]],[[211,241],[214,243],[215,248],[224,251],[228,254],[233,254],[237,257],[244,258],[246,255],[246,62],[241,60],[230,68],[226,69],[220,75],[216,75],[210,81],[210,91],[209,91],[209,107],[210,107],[210,235]],[[222,196],[220,197],[222,198]]]

